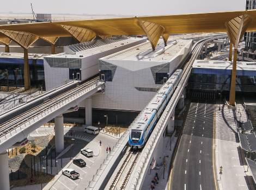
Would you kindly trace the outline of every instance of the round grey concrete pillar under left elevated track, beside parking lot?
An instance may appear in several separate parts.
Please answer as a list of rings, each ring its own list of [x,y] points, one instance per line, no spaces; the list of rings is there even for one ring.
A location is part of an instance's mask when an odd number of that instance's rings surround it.
[[[60,153],[64,150],[64,123],[63,115],[59,115],[54,118],[55,124],[55,148],[56,152]]]

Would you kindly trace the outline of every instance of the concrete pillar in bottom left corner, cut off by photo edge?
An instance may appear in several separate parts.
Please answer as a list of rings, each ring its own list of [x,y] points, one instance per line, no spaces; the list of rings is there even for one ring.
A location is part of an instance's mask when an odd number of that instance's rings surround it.
[[[9,181],[9,164],[8,164],[8,153],[4,151],[0,154],[0,184],[1,190],[9,190],[10,189],[10,181]]]

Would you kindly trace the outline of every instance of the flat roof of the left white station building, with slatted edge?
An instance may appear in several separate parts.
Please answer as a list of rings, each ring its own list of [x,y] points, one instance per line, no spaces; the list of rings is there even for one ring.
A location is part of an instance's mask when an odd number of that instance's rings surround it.
[[[92,44],[92,45],[90,45],[91,42],[86,42],[86,43],[88,43],[87,46],[85,46],[85,43],[81,43],[81,47],[78,47],[78,45],[80,45],[80,44],[72,45],[72,49],[70,49],[68,51],[68,53],[60,53],[60,54],[50,55],[48,57],[82,59],[84,57],[87,57],[87,56],[90,56],[93,54],[105,52],[106,50],[109,50],[109,49],[124,46],[128,43],[141,41],[141,40],[145,40],[145,39],[137,38],[137,37],[130,37],[129,39],[123,39],[120,41],[111,41],[111,43],[104,42],[104,41],[108,41],[108,40],[109,39],[101,40],[100,43]],[[69,47],[71,47],[71,46],[69,46]],[[80,49],[80,51],[78,51],[79,49]]]

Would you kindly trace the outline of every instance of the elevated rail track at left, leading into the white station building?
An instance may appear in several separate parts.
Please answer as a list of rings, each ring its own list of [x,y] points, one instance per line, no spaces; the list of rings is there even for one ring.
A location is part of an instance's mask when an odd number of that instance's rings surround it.
[[[31,121],[35,121],[36,118],[39,119],[39,116],[44,117],[42,113],[46,116],[46,112],[51,112],[56,106],[57,108],[60,107],[60,103],[68,104],[68,100],[74,100],[83,92],[89,91],[90,88],[95,88],[102,84],[103,82],[100,81],[99,76],[94,76],[82,83],[75,83],[68,88],[64,88],[64,90],[50,94],[50,96],[42,97],[41,100],[0,118],[0,138],[11,133],[13,130],[16,132],[17,128],[21,128],[21,126],[26,125],[26,123],[28,123],[28,125],[31,124]]]

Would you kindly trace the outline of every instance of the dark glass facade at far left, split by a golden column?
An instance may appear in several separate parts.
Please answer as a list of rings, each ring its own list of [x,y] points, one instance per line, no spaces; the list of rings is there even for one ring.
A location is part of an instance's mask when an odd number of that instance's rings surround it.
[[[42,59],[29,59],[31,86],[45,88],[44,62]],[[24,86],[23,59],[0,58],[0,86]]]

